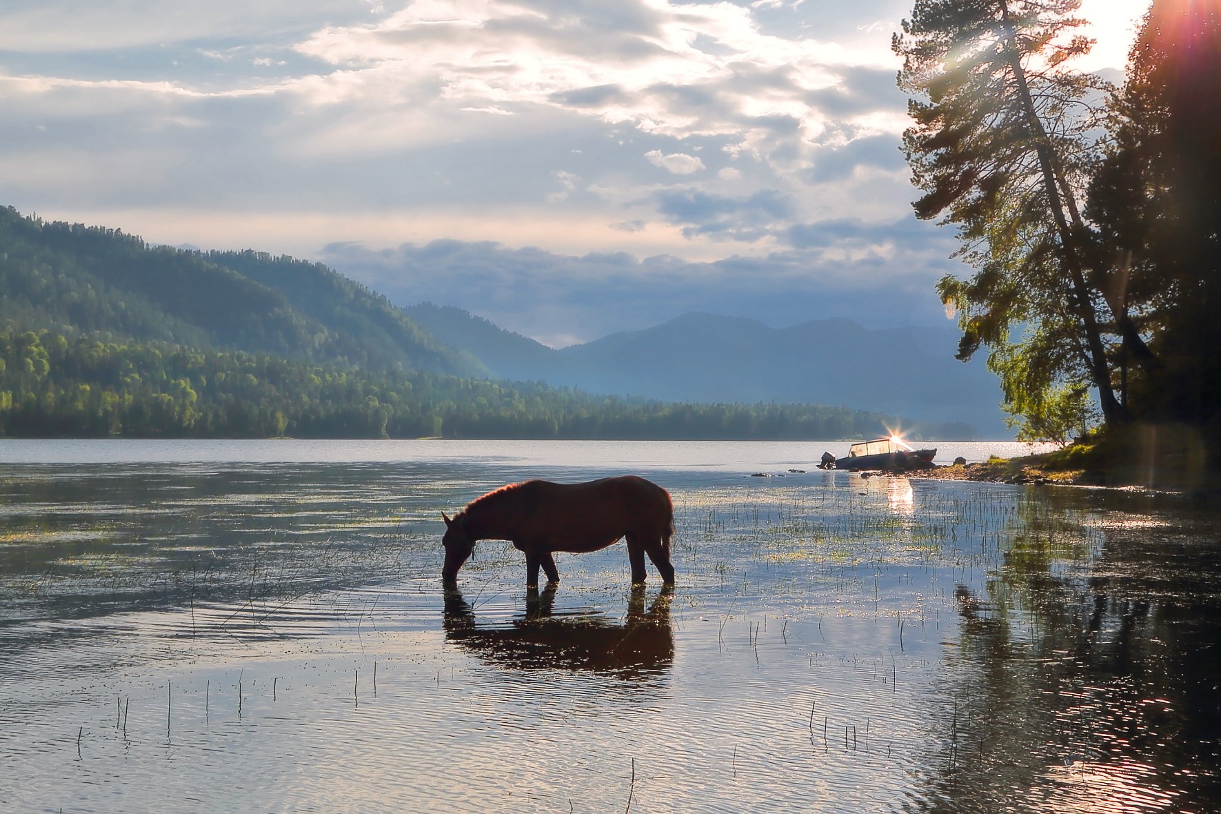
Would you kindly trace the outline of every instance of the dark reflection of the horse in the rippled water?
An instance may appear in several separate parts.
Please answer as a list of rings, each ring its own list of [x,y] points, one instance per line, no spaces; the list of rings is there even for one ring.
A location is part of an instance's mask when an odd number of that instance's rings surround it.
[[[634,585],[621,625],[597,612],[553,616],[554,585],[526,593],[526,611],[509,627],[480,627],[459,590],[446,593],[446,640],[485,661],[518,670],[593,671],[640,680],[674,664],[670,628],[673,588],[645,609],[645,587]]]

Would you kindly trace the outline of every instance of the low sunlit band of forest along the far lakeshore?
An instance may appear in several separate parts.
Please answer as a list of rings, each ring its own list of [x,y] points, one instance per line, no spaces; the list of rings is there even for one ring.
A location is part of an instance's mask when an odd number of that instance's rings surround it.
[[[16,438],[835,439],[895,425],[846,407],[667,403],[0,330],[0,434]],[[960,425],[923,434],[973,438]]]

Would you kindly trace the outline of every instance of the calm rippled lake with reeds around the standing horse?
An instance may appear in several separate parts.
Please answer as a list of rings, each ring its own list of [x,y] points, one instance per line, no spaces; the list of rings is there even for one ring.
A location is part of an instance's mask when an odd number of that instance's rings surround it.
[[[0,809],[1221,809],[1216,512],[846,446],[0,440]],[[624,472],[673,592],[442,592],[442,511]]]

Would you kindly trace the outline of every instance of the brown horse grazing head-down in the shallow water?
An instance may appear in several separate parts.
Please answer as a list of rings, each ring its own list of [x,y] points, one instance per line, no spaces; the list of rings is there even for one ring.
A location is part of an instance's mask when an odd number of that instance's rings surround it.
[[[628,539],[632,583],[645,582],[645,554],[662,581],[674,584],[670,537],[674,506],[656,483],[623,475],[590,483],[526,480],[490,491],[446,521],[446,565],[441,578],[455,585],[458,568],[477,540],[509,540],[526,555],[526,585],[538,584],[538,568],[559,582],[553,551],[585,554]]]

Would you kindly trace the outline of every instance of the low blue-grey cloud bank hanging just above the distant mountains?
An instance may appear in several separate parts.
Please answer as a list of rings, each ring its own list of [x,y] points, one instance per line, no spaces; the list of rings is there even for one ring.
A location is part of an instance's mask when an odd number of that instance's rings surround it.
[[[818,271],[807,257],[791,252],[687,262],[462,241],[377,251],[331,243],[319,259],[396,303],[457,306],[551,347],[645,330],[692,310],[773,328],[833,315],[866,328],[951,328],[934,287],[945,274],[940,258],[954,252],[952,240],[941,235],[941,242],[929,243],[919,233],[927,224],[910,220],[897,240],[923,246],[922,260],[855,258],[838,262],[834,271]],[[862,235],[858,224],[846,221],[829,231]]]

